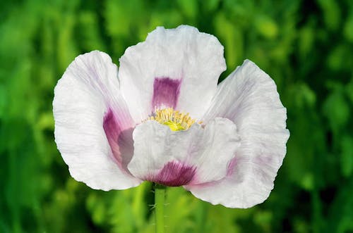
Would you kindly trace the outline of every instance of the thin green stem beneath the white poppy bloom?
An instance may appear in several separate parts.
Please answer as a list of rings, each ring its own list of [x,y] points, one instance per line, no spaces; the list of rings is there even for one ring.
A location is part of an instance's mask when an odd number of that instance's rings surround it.
[[[164,233],[164,200],[166,187],[155,184],[155,232]]]

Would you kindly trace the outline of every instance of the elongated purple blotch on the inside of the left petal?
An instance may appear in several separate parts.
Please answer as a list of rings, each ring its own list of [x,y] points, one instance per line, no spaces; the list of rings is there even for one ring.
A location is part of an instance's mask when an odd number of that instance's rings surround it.
[[[109,108],[104,115],[103,129],[116,163],[128,172],[127,165],[133,156],[133,128],[121,130],[116,115]]]

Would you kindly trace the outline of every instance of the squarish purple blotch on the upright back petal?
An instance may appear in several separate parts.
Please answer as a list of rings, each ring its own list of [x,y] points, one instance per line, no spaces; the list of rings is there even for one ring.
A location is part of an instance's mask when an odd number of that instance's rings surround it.
[[[152,109],[160,106],[175,108],[178,103],[181,80],[155,77],[153,82]]]

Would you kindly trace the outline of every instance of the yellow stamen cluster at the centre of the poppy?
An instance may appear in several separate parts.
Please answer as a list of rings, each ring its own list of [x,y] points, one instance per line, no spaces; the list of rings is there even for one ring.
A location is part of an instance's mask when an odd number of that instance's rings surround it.
[[[190,117],[189,113],[181,113],[173,108],[156,109],[147,120],[155,120],[162,125],[167,125],[173,131],[188,130],[196,121]],[[198,122],[198,124],[201,123]]]

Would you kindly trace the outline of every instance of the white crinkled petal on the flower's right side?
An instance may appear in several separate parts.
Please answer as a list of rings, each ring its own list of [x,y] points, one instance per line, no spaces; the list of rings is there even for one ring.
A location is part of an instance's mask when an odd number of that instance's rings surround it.
[[[227,176],[208,184],[186,186],[193,195],[230,208],[249,208],[270,195],[286,153],[287,113],[275,82],[251,61],[245,61],[218,87],[203,120],[228,118],[237,125],[241,145]]]

